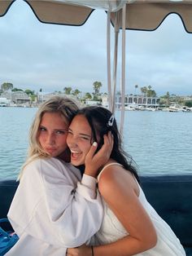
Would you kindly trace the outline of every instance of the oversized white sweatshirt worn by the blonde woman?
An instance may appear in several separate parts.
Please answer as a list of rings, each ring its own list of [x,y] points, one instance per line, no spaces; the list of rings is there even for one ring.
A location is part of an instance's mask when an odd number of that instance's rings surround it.
[[[79,170],[55,158],[29,164],[8,214],[15,232],[67,248],[88,241],[101,225],[103,205],[96,180],[80,179]]]

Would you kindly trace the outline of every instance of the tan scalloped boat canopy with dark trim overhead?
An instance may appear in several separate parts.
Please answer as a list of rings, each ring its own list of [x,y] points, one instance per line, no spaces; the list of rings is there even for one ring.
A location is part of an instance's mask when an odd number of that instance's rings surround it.
[[[0,15],[5,15],[11,3],[0,1]],[[192,33],[192,0],[26,0],[38,20],[45,23],[82,25],[94,9],[111,11],[115,24],[116,11],[126,4],[126,29],[155,30],[170,13],[181,17],[187,32]],[[121,24],[120,24],[121,27]]]

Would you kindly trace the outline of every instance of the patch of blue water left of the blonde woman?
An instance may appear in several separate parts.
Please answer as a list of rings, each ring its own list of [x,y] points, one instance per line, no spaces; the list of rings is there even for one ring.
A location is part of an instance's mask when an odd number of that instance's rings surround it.
[[[37,108],[0,108],[0,178],[15,178],[28,148],[28,129]]]

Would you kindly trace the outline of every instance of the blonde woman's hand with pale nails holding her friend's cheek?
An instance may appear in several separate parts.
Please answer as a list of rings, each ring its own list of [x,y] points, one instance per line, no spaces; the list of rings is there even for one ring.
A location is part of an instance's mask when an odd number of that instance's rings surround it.
[[[85,157],[85,174],[95,178],[98,175],[99,168],[104,166],[110,159],[113,148],[113,135],[111,134],[111,131],[109,131],[107,135],[104,135],[103,139],[104,143],[102,148],[95,153],[98,144],[94,142]]]

